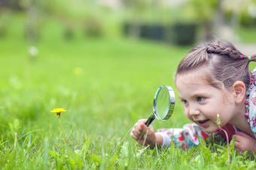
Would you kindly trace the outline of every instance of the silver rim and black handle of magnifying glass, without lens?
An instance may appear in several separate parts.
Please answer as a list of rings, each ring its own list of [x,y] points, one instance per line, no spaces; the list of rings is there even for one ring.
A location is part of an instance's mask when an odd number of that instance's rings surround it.
[[[168,101],[168,110],[166,112],[166,114],[161,118],[160,114],[157,112],[157,97],[158,94],[160,94],[160,92],[166,90],[166,92],[168,91],[168,97],[169,97],[169,101]],[[148,127],[155,118],[157,118],[158,120],[167,120],[172,116],[172,113],[174,111],[174,106],[175,106],[175,94],[174,91],[172,90],[172,88],[170,86],[167,85],[160,85],[157,88],[157,91],[154,94],[154,101],[153,101],[153,114],[148,118],[148,120],[145,122],[145,125]]]

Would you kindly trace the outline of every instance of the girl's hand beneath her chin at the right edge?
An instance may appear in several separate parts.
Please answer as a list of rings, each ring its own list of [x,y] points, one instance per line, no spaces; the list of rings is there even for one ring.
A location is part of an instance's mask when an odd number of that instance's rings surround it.
[[[235,137],[236,151],[253,151],[256,154],[256,139],[242,132],[237,132],[233,137]]]

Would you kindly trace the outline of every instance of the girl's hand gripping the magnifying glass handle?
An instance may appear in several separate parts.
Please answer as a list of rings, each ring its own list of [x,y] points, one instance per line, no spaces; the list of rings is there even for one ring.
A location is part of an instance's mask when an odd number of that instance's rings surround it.
[[[145,125],[146,119],[141,119],[137,121],[134,125],[133,130],[130,135],[141,145],[150,145],[151,148],[154,148],[157,143],[157,137],[154,133],[152,126],[147,127]]]

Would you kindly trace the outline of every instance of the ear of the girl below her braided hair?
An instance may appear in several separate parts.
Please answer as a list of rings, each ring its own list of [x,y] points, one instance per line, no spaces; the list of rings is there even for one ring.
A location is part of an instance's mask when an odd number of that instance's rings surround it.
[[[235,102],[242,103],[246,93],[245,83],[242,81],[236,81],[232,87],[233,87]]]

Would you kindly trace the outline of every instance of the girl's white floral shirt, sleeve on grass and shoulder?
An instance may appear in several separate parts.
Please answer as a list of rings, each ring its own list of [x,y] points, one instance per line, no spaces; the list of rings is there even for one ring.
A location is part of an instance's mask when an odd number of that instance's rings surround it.
[[[245,108],[245,117],[256,139],[256,68],[250,75],[250,84],[246,91]],[[232,136],[238,130],[231,124],[227,124],[222,127],[222,129],[226,130],[229,140],[232,139]],[[211,135],[215,136],[215,140],[227,142],[226,136],[222,130],[217,130],[215,133],[206,133],[197,124],[185,124],[183,128],[160,129],[157,130],[157,133],[163,137],[163,147],[174,144],[175,146],[187,149],[199,145],[199,138],[206,140],[209,139]]]

